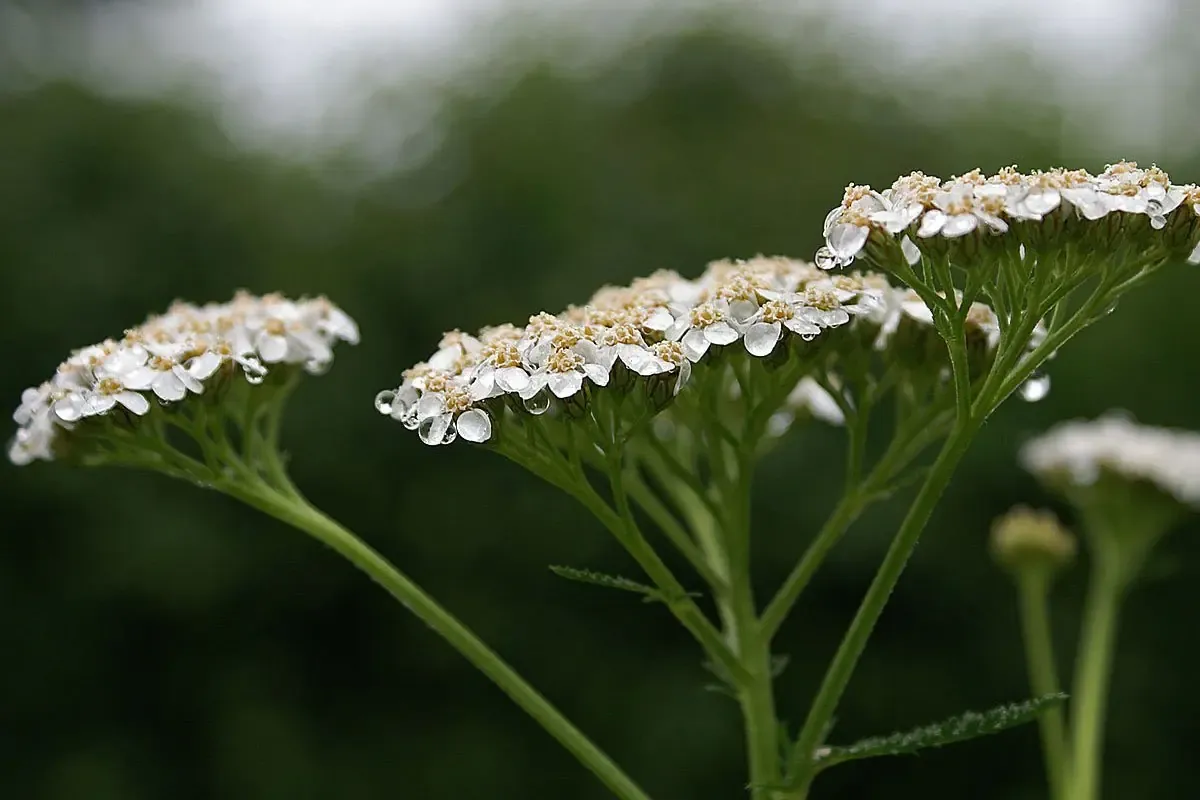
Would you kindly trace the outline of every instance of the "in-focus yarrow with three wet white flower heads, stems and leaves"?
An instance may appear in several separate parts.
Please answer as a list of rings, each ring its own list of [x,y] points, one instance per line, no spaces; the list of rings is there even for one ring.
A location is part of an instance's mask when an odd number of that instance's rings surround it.
[[[641,593],[691,633],[739,703],[754,800],[800,800],[836,764],[992,733],[1060,702],[1043,692],[905,734],[828,741],[871,630],[984,420],[1018,390],[1044,395],[1042,365],[1124,291],[1200,258],[1200,192],[1132,163],[1098,176],[916,173],[883,192],[851,186],[824,236],[816,263],[756,257],[715,261],[695,278],[662,271],[523,325],[454,331],[376,397],[380,414],[426,444],[482,445],[600,521],[648,583],[556,571]],[[864,269],[840,271],[854,261]],[[282,398],[304,367],[328,366],[335,341],[355,338],[325,301],[179,307],[80,351],[28,392],[13,459],[157,469],[310,533],[462,651],[617,796],[646,800],[461,622],[288,480],[276,438]],[[750,582],[755,467],[810,420],[846,429],[844,493],[760,602]],[[886,441],[869,441],[880,434]],[[914,479],[920,488],[803,723],[785,726],[773,690],[780,625],[858,516]],[[715,618],[667,566],[664,543],[696,573]]]

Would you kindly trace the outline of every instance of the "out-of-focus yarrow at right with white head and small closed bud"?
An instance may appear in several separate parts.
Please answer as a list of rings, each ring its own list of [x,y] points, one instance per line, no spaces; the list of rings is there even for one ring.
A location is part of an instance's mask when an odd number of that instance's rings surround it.
[[[1085,534],[1090,585],[1070,724],[1054,709],[1040,726],[1051,800],[1097,800],[1121,604],[1163,535],[1200,511],[1200,434],[1109,414],[1033,439],[1021,463],[1074,507]],[[1052,513],[1020,509],[996,524],[992,551],[1018,588],[1030,682],[1036,692],[1057,692],[1050,590],[1075,540]]]

